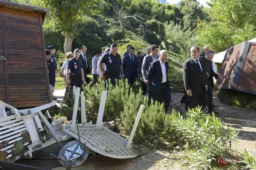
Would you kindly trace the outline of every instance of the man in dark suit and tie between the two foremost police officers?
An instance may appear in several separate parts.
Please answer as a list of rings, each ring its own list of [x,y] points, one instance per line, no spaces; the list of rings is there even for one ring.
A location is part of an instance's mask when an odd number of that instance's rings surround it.
[[[87,74],[90,74],[90,67],[89,67],[89,62],[88,62],[87,56],[86,56],[86,51],[87,51],[87,47],[85,45],[82,45],[79,59],[82,60],[83,71],[84,71],[84,75],[85,75],[85,82],[87,84],[89,84],[90,78],[87,77]]]

